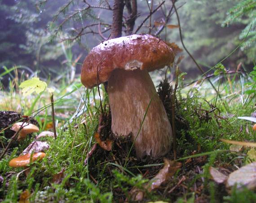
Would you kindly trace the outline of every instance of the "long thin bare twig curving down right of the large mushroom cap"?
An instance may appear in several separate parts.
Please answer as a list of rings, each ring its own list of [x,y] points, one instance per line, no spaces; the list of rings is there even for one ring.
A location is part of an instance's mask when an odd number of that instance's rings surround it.
[[[177,12],[177,8],[175,6],[175,1],[176,0],[172,0],[172,5],[173,5],[173,8],[175,10],[175,13],[176,13],[176,16],[177,16],[177,21],[178,21],[178,24],[179,24],[179,32],[180,32],[180,38],[181,38],[181,44],[183,46],[183,48],[185,49],[185,51],[188,53],[188,55],[190,56],[190,58],[194,61],[195,65],[197,66],[197,68],[199,68],[199,70],[203,73],[203,75],[206,76],[206,73],[203,71],[203,69],[199,66],[199,64],[196,62],[196,60],[194,59],[194,57],[190,54],[190,52],[187,50],[187,48],[185,47],[185,44],[183,42],[183,38],[182,38],[182,34],[181,34],[181,23],[180,23],[180,18],[179,18],[179,15],[178,15],[178,12]],[[209,81],[209,83],[212,85],[212,88],[215,90],[216,93],[218,93],[218,90],[215,88],[215,86],[212,84],[211,80],[210,79],[207,79]],[[221,95],[219,95],[221,101],[222,98],[221,98]],[[227,110],[226,106],[225,106],[225,103],[223,101],[223,106],[225,108],[225,110]]]

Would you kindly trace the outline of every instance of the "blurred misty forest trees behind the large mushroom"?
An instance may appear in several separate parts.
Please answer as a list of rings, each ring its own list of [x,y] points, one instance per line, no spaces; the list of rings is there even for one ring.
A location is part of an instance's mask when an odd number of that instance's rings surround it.
[[[60,69],[62,74],[71,70],[79,73],[70,60],[82,63],[92,47],[109,38],[113,2],[40,0],[35,4],[33,0],[0,0],[0,65],[25,65],[44,77],[57,75]],[[156,34],[181,47],[178,29],[166,26],[177,25],[172,1],[137,0],[136,21],[129,32],[132,2],[124,0],[123,35]],[[176,6],[185,45],[204,70],[233,51],[252,25],[242,46],[224,61],[230,69],[240,62],[252,67],[256,53],[255,0],[178,0]],[[154,13],[149,17],[150,12]],[[181,55],[185,56],[181,70],[191,72],[190,77],[198,76],[189,56],[184,51]]]

